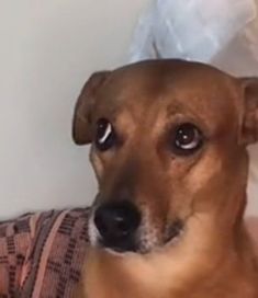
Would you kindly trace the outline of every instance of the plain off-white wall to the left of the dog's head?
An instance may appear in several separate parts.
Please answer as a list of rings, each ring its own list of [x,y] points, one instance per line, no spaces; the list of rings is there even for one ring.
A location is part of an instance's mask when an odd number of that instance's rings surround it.
[[[126,61],[147,1],[0,1],[0,218],[92,199],[72,108],[92,71]]]

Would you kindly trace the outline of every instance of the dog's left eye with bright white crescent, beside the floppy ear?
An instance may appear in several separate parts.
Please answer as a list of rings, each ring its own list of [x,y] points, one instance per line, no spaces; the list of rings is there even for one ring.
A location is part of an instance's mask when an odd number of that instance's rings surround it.
[[[112,124],[104,118],[97,123],[96,147],[100,151],[111,149],[116,142],[116,136]]]

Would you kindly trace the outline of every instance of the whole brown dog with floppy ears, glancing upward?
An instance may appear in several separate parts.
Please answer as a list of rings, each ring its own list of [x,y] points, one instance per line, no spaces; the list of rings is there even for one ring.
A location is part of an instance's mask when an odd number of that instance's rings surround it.
[[[94,73],[74,138],[99,181],[81,297],[258,298],[243,219],[257,79],[180,60]]]

